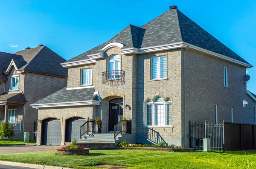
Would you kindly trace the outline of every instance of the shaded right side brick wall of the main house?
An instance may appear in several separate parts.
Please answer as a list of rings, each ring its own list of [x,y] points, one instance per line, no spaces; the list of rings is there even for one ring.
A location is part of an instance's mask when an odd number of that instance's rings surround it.
[[[228,68],[228,87],[224,87],[224,66]],[[186,51],[186,133],[189,120],[215,121],[215,104],[218,104],[218,121],[255,123],[254,106],[244,85],[246,68],[200,52]],[[243,100],[248,105],[243,107]]]

